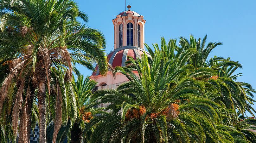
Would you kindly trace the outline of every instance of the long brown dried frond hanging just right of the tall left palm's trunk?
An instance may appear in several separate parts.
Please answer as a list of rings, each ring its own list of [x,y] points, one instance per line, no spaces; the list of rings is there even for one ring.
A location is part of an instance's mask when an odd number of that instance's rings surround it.
[[[56,142],[56,138],[58,132],[61,128],[61,117],[62,117],[62,95],[61,95],[61,88],[59,86],[58,80],[56,79],[56,104],[55,104],[55,119],[54,119],[54,133],[53,133],[53,143]]]

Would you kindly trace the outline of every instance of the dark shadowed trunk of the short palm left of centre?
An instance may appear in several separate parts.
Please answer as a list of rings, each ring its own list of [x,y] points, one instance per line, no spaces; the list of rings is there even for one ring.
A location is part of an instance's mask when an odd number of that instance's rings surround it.
[[[81,143],[82,142],[82,130],[78,123],[75,123],[71,130],[70,143]]]

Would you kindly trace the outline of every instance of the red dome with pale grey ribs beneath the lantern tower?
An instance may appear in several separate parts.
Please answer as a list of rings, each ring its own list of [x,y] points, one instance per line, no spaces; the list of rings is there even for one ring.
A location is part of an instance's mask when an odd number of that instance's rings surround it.
[[[112,65],[113,68],[116,66],[125,66],[125,62],[127,61],[128,56],[132,57],[134,60],[137,58],[140,59],[143,52],[145,52],[150,57],[150,54],[144,49],[138,47],[121,47],[111,51],[111,53],[108,54],[108,63]],[[98,66],[95,68],[97,71],[93,72],[92,75],[94,76],[99,75]]]

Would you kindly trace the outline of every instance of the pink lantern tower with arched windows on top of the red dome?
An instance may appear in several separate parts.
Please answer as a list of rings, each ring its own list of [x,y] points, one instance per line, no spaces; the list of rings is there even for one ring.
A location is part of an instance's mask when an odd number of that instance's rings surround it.
[[[144,49],[144,25],[146,20],[135,11],[121,12],[112,20],[114,25],[114,49],[121,47],[138,47]]]

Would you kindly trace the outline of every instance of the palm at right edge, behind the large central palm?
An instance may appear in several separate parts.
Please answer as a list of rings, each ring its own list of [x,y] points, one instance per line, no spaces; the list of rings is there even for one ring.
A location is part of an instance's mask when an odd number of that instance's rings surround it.
[[[189,58],[188,64],[194,68],[191,70],[198,73],[204,71],[204,74],[194,76],[199,80],[207,80],[209,86],[214,86],[216,92],[205,93],[208,99],[214,99],[219,104],[224,104],[229,109],[239,110],[241,113],[249,111],[253,114],[253,108],[249,104],[253,104],[253,90],[252,86],[248,83],[241,83],[236,81],[236,77],[241,76],[241,73],[232,75],[236,69],[242,68],[238,61],[232,61],[230,58],[223,58],[214,56],[209,58],[210,52],[221,45],[221,42],[210,42],[206,44],[207,35],[202,39],[196,40],[192,35],[189,40],[180,37],[179,44],[184,49],[196,49],[196,53]],[[208,60],[209,58],[209,60]],[[210,73],[210,74],[207,74]],[[248,94],[249,96],[247,96]],[[220,103],[221,102],[221,103]]]

